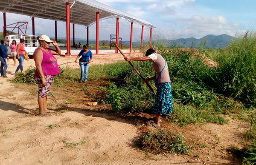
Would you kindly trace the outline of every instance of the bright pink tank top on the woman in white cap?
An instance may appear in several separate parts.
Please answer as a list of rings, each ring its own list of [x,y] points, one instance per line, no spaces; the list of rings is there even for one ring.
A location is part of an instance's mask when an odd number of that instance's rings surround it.
[[[43,49],[41,49],[41,51],[43,52],[43,60],[42,60],[41,66],[42,66],[44,75],[55,76],[57,74],[60,74],[57,59],[52,55],[52,52],[49,49],[48,49],[49,53],[46,53]],[[37,69],[35,70],[35,77],[40,77]]]

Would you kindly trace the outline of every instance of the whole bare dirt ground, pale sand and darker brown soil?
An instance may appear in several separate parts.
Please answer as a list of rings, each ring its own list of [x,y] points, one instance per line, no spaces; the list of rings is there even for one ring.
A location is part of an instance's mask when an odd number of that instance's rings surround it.
[[[92,65],[122,59],[122,55],[98,55],[93,57]],[[75,57],[57,57],[57,60],[60,65],[74,61]],[[24,61],[24,70],[29,65],[34,66],[34,61]],[[69,66],[79,67],[76,63]],[[50,117],[39,117],[36,115],[37,87],[10,82],[16,67],[10,59],[8,78],[0,78],[0,165],[240,164],[240,160],[226,149],[230,145],[243,147],[245,132],[249,128],[247,123],[242,122],[238,128],[240,121],[227,117],[229,122],[226,125],[187,125],[180,128],[163,120],[163,128],[186,137],[186,142],[192,146],[191,154],[154,156],[135,145],[145,125],[136,125],[129,118],[102,111],[108,111],[108,105],[86,105],[91,101],[90,96],[72,91],[72,87],[59,92],[52,89],[55,95],[49,95],[48,105],[58,112]],[[142,115],[141,119],[145,117],[147,115]],[[54,128],[49,129],[53,124]]]

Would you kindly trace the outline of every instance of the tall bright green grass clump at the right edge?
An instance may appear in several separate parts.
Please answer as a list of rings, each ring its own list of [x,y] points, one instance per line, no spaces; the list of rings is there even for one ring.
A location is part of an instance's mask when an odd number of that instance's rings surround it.
[[[217,92],[256,106],[256,34],[233,41],[218,59],[212,80]]]

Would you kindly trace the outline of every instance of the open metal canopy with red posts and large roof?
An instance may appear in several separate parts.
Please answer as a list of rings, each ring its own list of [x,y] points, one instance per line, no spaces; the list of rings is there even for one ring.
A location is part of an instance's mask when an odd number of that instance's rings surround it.
[[[67,53],[70,55],[71,34],[70,23],[73,23],[73,46],[75,46],[75,24],[87,28],[87,44],[89,43],[89,26],[96,24],[96,54],[99,54],[99,21],[116,18],[116,45],[119,38],[119,18],[131,22],[130,53],[132,52],[133,24],[142,26],[141,51],[143,48],[144,26],[150,28],[149,46],[152,46],[152,30],[156,26],[126,12],[114,9],[96,0],[0,0],[0,11],[3,11],[3,37],[6,37],[6,13],[27,15],[32,18],[32,35],[35,40],[35,17],[55,21],[55,40],[57,40],[57,21],[66,22]],[[33,43],[35,46],[35,43]],[[118,53],[116,48],[115,53]]]

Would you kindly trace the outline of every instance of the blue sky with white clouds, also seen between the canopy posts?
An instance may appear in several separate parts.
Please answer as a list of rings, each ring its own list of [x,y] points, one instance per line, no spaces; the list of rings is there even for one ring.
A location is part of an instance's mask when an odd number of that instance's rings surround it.
[[[253,28],[256,22],[255,0],[98,0],[116,9],[128,12],[157,26],[154,38],[201,38],[207,34],[238,36]],[[29,21],[28,34],[32,34],[31,19],[7,13],[7,24]],[[3,26],[3,14],[0,14]],[[106,26],[108,25],[108,26]],[[54,36],[52,20],[35,19],[35,33]],[[52,30],[49,29],[52,26]],[[90,28],[90,39],[95,39],[95,25]],[[71,29],[72,30],[72,29]],[[65,23],[58,22],[58,36],[65,37]],[[119,36],[130,39],[130,23],[122,19]],[[71,33],[72,34],[72,33]],[[115,34],[115,19],[100,23],[100,40],[109,40]],[[141,26],[134,25],[134,40],[140,40]],[[84,26],[76,25],[76,37],[86,38]],[[144,30],[148,38],[149,28]]]

